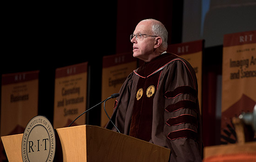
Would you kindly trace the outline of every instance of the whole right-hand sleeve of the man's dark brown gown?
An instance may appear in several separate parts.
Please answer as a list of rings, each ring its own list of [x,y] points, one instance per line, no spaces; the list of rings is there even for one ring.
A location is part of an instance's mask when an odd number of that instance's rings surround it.
[[[170,62],[162,70],[157,93],[152,142],[165,143],[172,162],[202,161],[197,81],[191,65],[182,58]]]

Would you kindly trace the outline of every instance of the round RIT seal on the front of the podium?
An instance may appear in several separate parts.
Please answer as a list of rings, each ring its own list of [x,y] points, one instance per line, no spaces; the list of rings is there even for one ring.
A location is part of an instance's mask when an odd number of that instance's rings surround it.
[[[22,161],[53,162],[55,147],[54,128],[49,120],[44,116],[32,118],[22,137]]]

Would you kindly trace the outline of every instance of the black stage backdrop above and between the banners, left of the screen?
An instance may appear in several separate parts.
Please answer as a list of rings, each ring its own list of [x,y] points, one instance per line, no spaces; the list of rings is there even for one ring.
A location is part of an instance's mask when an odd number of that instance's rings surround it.
[[[0,73],[40,70],[39,115],[53,121],[55,69],[88,62],[88,107],[96,105],[101,101],[102,57],[132,52],[129,35],[141,19],[161,20],[169,42],[181,42],[182,1],[135,2],[8,4]],[[179,16],[173,19],[173,12]],[[100,107],[90,111],[87,124],[100,125],[100,113]]]

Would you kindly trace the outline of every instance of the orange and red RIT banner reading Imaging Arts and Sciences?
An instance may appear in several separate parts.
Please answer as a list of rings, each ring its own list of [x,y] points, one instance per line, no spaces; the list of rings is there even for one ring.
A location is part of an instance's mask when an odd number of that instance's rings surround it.
[[[236,143],[232,118],[256,104],[256,31],[224,35],[222,59],[222,143]]]

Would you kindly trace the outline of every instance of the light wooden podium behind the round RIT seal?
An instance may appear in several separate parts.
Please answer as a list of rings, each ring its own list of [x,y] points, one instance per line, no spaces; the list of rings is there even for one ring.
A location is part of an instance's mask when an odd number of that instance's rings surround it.
[[[54,162],[168,162],[170,150],[99,126],[58,128]],[[22,162],[23,134],[1,137],[9,162]]]

